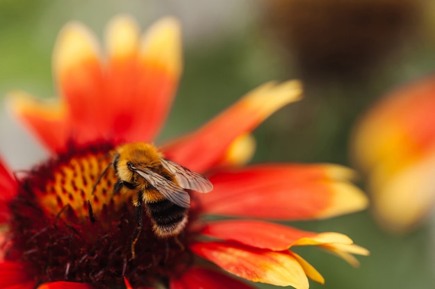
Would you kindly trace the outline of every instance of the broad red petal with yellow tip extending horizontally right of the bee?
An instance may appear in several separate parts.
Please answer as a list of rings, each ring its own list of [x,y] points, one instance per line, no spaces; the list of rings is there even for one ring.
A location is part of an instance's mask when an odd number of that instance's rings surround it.
[[[254,165],[216,172],[211,194],[197,195],[207,214],[305,220],[366,208],[366,196],[334,165]]]

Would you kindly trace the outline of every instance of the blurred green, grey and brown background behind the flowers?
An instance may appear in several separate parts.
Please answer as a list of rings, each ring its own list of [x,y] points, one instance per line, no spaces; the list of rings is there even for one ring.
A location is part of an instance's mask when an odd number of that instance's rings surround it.
[[[108,19],[119,13],[135,16],[142,28],[163,15],[179,17],[183,26],[183,78],[160,140],[195,129],[265,81],[304,81],[304,99],[255,131],[255,163],[352,166],[350,134],[361,113],[397,85],[435,69],[431,0],[0,0],[1,97],[13,89],[54,97],[51,51],[60,28],[79,20],[101,39]],[[4,101],[0,135],[0,154],[14,170],[47,156]],[[435,217],[400,236],[381,229],[370,210],[291,224],[345,233],[372,253],[358,257],[361,267],[354,269],[316,249],[297,249],[325,276],[324,286],[311,282],[310,288],[435,286]]]

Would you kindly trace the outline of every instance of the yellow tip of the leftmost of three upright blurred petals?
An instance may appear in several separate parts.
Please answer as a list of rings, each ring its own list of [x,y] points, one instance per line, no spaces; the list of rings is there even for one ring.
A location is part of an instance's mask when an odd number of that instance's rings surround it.
[[[54,47],[54,74],[61,76],[80,63],[99,60],[100,55],[99,42],[92,32],[80,22],[71,22],[62,28]]]

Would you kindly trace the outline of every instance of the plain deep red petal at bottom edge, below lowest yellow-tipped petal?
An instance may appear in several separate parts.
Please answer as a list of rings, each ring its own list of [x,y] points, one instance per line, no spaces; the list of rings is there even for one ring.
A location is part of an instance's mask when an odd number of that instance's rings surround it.
[[[220,272],[201,267],[191,267],[180,279],[171,280],[170,289],[253,289]]]

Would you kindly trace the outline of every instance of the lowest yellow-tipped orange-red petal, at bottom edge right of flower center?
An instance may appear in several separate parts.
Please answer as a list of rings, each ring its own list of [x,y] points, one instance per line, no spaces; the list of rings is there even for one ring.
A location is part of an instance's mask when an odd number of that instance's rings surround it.
[[[192,251],[241,278],[276,286],[309,288],[304,269],[288,251],[269,251],[236,243],[197,242]]]

